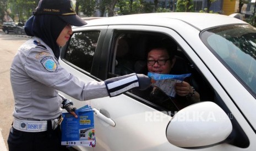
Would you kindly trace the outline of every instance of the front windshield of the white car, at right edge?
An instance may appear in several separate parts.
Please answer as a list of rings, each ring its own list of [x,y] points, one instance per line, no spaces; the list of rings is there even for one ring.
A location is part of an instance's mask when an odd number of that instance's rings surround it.
[[[256,97],[256,28],[249,25],[217,27],[203,32],[201,39]]]

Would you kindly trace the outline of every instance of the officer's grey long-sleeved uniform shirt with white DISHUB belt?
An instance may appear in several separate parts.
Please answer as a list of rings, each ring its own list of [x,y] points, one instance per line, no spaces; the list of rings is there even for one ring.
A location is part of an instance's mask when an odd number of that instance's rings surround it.
[[[37,37],[19,48],[10,68],[10,80],[15,100],[11,131],[16,132],[44,132],[49,120],[52,130],[57,128],[63,102],[57,90],[78,100],[108,96],[105,82],[79,81],[59,66],[51,48]],[[11,138],[8,143],[14,142]]]

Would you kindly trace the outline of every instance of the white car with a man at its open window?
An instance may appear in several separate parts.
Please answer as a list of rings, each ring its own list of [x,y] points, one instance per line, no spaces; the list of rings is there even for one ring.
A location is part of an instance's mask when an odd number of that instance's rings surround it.
[[[59,63],[84,82],[144,73],[147,46],[178,45],[177,74],[192,73],[200,102],[183,109],[130,90],[78,101],[94,109],[96,146],[77,150],[256,150],[256,28],[230,16],[153,13],[88,20],[73,27]],[[165,94],[162,94],[165,95]]]

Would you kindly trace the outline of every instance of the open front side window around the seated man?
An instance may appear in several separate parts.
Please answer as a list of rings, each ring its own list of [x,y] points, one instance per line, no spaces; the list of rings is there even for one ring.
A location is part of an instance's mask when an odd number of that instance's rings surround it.
[[[172,37],[155,32],[134,32],[134,31],[116,31],[112,42],[113,61],[110,65],[108,78],[130,73],[142,73],[148,75],[147,55],[149,45],[156,41],[167,39],[170,44],[178,45]],[[213,101],[213,90],[208,83],[205,83],[201,75],[195,70],[194,66],[184,55],[181,47],[177,48],[176,63],[171,69],[170,74],[192,73],[191,77],[186,79],[190,85],[193,85],[201,93],[201,100]],[[158,88],[150,87],[147,90],[132,89],[128,94],[139,97],[139,101],[154,104],[154,107],[164,111],[179,111],[193,102],[178,102],[165,94]]]

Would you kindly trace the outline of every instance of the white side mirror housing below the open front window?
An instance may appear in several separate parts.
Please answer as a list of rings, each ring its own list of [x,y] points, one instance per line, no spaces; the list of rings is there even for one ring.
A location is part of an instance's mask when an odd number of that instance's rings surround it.
[[[166,137],[177,147],[203,147],[226,140],[231,131],[230,119],[217,104],[199,102],[172,117]]]

